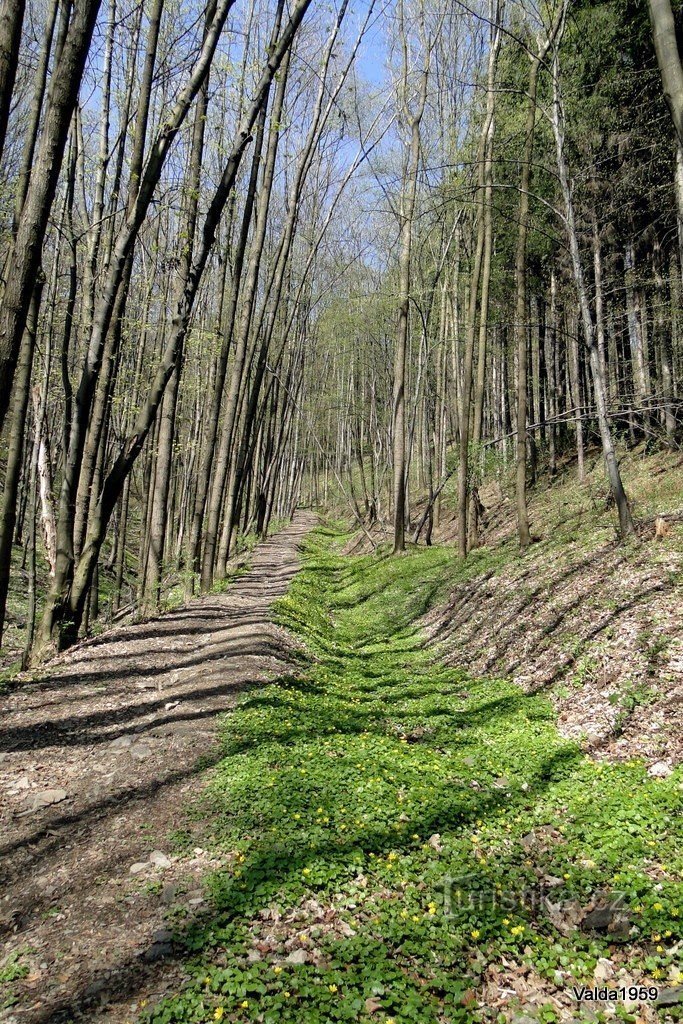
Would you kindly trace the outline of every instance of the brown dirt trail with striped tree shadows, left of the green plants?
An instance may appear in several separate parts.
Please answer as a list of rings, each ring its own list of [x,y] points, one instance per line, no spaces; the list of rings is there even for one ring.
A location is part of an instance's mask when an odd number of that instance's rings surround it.
[[[291,665],[271,605],[313,521],[225,594],[112,631],[0,700],[0,964],[22,949],[29,970],[0,986],[1,1021],[125,1021],[176,980],[165,913],[201,913],[212,864],[167,856],[168,834],[219,756],[217,716]]]

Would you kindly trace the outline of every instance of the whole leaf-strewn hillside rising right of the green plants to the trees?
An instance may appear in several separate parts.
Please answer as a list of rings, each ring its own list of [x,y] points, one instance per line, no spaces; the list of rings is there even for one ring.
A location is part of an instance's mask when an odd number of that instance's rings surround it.
[[[512,482],[487,480],[482,545],[425,626],[447,663],[547,691],[563,734],[596,756],[643,757],[668,773],[683,761],[683,459],[644,449],[624,457],[638,522],[626,545],[598,452],[588,466],[583,484],[567,464],[529,492],[535,543],[523,554]],[[456,508],[451,483],[435,544],[455,545]]]

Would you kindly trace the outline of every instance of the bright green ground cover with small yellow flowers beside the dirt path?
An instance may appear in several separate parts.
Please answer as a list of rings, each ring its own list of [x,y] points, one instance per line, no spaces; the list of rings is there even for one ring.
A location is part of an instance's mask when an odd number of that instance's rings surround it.
[[[614,985],[620,971],[677,985],[680,771],[593,762],[544,695],[424,646],[420,616],[500,551],[463,565],[444,548],[343,557],[338,541],[309,538],[279,604],[301,673],[224,721],[194,809],[223,864],[212,911],[178,932],[190,978],[145,1019],[455,1024],[516,1007],[550,1022],[566,1019],[553,996],[593,984],[601,958]],[[600,892],[621,894],[626,933],[564,928],[562,908]],[[533,1005],[494,1007],[496,970],[524,973]]]

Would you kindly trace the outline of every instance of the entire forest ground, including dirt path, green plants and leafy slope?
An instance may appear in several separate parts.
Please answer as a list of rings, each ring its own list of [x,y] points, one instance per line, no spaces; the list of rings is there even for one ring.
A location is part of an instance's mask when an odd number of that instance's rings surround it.
[[[523,555],[495,487],[466,562],[302,516],[14,690],[0,1020],[683,1020],[680,455],[623,469],[628,545],[597,462]]]

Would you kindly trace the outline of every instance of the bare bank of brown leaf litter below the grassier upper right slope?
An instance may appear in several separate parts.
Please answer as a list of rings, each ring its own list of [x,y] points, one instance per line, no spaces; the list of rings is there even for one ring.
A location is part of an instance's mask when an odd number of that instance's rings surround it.
[[[594,757],[683,763],[683,527],[634,548],[533,545],[463,584],[425,626],[446,660],[546,691]]]

